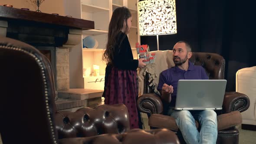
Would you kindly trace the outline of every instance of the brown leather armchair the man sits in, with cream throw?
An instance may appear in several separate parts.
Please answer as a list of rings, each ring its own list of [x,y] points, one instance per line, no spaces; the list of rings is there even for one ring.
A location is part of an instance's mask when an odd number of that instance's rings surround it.
[[[176,132],[180,142],[184,143],[182,134],[180,133],[174,118],[164,115],[164,100],[156,95],[159,73],[174,66],[172,51],[154,52],[156,52],[155,63],[149,64],[139,71],[139,92],[143,94],[138,98],[138,108],[141,112],[148,114],[148,124],[151,129],[170,129]],[[193,62],[194,65],[203,66],[209,79],[224,79],[225,59],[223,59],[222,56],[214,53],[193,52],[190,61]],[[249,98],[246,95],[238,92],[225,93],[223,109],[221,111],[216,111],[218,115],[217,144],[238,144],[239,131],[235,126],[242,122],[240,112],[243,112],[248,108]]]

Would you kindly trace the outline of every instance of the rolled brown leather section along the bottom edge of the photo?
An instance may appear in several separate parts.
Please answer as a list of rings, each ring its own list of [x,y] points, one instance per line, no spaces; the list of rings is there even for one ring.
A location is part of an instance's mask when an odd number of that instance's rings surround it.
[[[174,132],[167,129],[132,129],[123,134],[102,134],[94,137],[62,139],[60,144],[179,144]]]

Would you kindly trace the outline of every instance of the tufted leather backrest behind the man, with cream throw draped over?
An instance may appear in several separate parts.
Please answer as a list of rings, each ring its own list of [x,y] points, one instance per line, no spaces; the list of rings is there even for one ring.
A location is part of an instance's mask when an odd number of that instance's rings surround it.
[[[149,64],[144,69],[140,69],[139,76],[143,75],[144,71],[147,67],[151,67],[154,69],[154,72],[158,77],[155,79],[155,83],[158,84],[159,74],[165,70],[169,69],[174,65],[173,62],[173,52],[172,50],[165,50],[165,51],[152,51],[156,53],[155,63]],[[193,52],[192,57],[189,59],[194,65],[201,65],[205,71],[209,79],[224,79],[224,71],[225,71],[225,59],[216,54],[216,53],[207,53],[207,52]],[[151,72],[152,73],[152,72]],[[141,76],[144,77],[139,81],[139,95],[142,93],[152,93],[154,90],[151,84],[150,75],[146,72],[145,75]]]

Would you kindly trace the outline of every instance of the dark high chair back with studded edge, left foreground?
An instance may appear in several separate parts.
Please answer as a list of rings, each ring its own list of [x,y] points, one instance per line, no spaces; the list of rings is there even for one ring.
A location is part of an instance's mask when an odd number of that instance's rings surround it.
[[[3,144],[56,144],[54,83],[33,46],[0,36],[0,133]]]

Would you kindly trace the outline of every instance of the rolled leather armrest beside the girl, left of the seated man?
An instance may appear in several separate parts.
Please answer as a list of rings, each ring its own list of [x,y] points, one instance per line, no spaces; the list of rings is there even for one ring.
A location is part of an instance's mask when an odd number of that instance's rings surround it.
[[[146,114],[161,114],[163,112],[163,103],[161,98],[153,93],[143,94],[137,101],[138,109]]]

